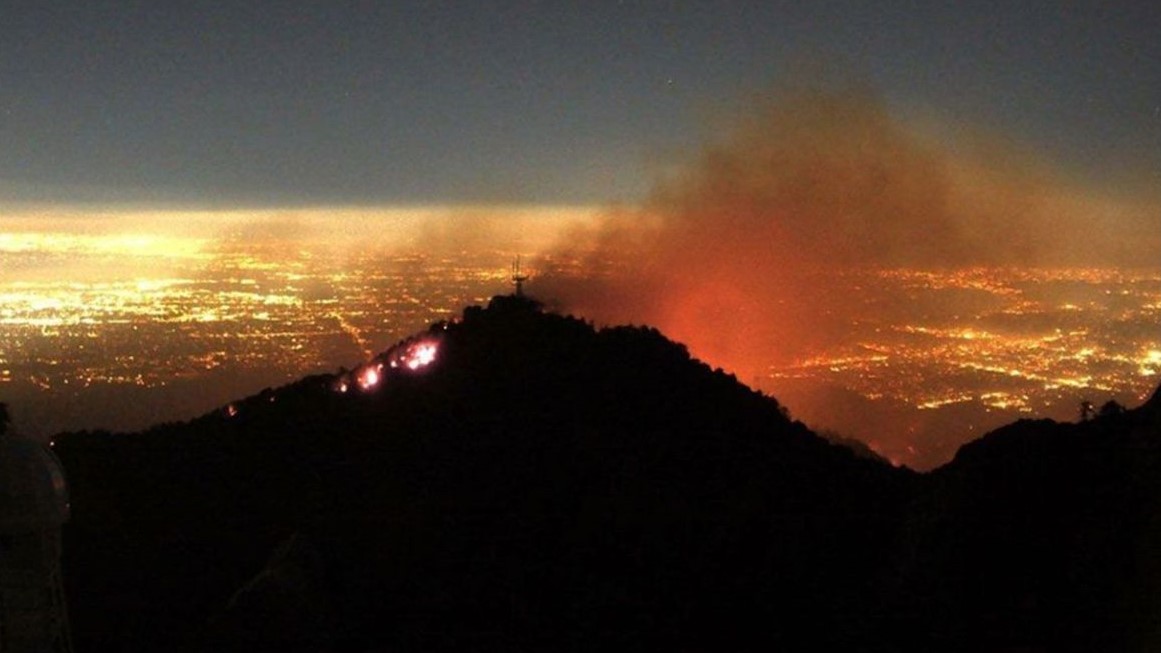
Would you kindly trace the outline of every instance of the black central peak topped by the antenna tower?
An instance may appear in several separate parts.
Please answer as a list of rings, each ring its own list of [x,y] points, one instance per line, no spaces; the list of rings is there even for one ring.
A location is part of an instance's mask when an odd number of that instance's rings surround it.
[[[423,338],[434,363],[390,367]],[[497,297],[414,343],[366,392],[58,438],[78,648],[824,646],[881,620],[909,472],[651,329]]]

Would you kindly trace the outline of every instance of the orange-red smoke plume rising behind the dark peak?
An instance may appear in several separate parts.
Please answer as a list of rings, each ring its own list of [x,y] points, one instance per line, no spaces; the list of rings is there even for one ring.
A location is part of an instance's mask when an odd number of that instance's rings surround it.
[[[909,129],[866,92],[786,92],[641,207],[570,232],[538,294],[598,323],[657,325],[748,380],[842,340],[861,310],[842,270],[1124,256],[1124,235],[1094,222],[1120,210],[1106,204],[1003,139]],[[1142,206],[1127,210],[1155,223]],[[1128,254],[1161,251],[1155,235],[1140,244]],[[564,268],[576,260],[582,272]]]

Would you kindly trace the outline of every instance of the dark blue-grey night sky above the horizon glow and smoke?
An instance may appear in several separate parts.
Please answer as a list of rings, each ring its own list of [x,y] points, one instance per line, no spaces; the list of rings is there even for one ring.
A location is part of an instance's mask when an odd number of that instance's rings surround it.
[[[3,2],[0,200],[634,200],[815,66],[1156,175],[1159,35],[1144,1]]]

